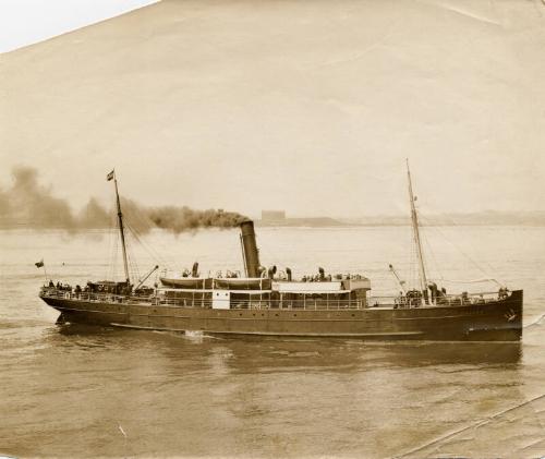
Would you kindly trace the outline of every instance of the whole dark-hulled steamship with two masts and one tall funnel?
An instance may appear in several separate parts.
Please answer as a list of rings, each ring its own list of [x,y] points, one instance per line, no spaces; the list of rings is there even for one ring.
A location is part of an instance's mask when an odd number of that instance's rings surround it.
[[[419,219],[408,169],[413,239],[419,258],[419,288],[391,298],[373,299],[363,275],[294,279],[259,262],[254,224],[240,224],[244,274],[202,277],[198,265],[179,277],[160,277],[144,287],[155,266],[137,285],[131,282],[124,243],[123,214],[112,173],[125,279],[87,282],[85,288],[53,285],[39,297],[59,311],[59,323],[202,331],[223,336],[332,337],[364,340],[519,341],[522,337],[522,290],[500,287],[488,293],[446,294],[426,278]]]

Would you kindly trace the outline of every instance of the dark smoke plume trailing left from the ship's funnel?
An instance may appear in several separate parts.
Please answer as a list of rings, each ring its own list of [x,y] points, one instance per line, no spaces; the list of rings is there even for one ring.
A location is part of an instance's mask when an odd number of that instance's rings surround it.
[[[51,186],[38,181],[36,169],[17,166],[12,170],[13,184],[0,189],[0,227],[80,229],[109,228],[116,220],[116,209],[104,207],[95,197],[77,213],[68,202],[56,197]],[[234,212],[221,209],[195,210],[190,207],[147,207],[122,198],[123,215],[132,229],[143,233],[153,228],[180,233],[198,228],[231,228],[247,219]]]

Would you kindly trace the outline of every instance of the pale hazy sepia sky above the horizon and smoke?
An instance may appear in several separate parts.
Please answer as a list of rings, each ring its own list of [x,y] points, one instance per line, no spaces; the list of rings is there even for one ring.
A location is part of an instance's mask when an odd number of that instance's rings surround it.
[[[543,212],[544,25],[532,1],[164,0],[0,55],[0,186],[32,166],[81,206],[116,167],[149,205],[391,215],[409,158],[424,213]]]

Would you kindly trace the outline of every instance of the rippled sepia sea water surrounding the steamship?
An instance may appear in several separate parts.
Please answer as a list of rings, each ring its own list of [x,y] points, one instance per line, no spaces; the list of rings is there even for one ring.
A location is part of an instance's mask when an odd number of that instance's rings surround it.
[[[242,270],[239,234],[130,240],[140,277]],[[416,281],[405,227],[257,228],[262,264]],[[0,454],[55,457],[538,457],[545,455],[545,228],[424,229],[449,292],[524,289],[516,343],[225,339],[56,325],[46,279],[123,278],[116,233],[0,231]],[[44,259],[45,271],[34,263]],[[136,273],[135,273],[136,274]],[[148,285],[157,281],[154,273]],[[456,282],[455,282],[456,280]]]

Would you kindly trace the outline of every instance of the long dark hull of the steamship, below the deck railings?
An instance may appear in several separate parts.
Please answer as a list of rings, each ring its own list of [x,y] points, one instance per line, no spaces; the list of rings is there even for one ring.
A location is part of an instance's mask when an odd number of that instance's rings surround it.
[[[522,291],[486,303],[412,309],[214,310],[44,297],[71,323],[221,335],[365,340],[519,341]]]

